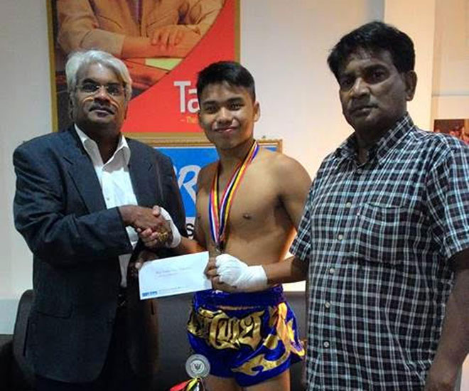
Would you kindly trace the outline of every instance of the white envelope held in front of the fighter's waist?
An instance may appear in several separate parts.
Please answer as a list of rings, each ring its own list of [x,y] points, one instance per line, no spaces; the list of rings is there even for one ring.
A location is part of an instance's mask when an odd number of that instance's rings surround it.
[[[207,262],[207,251],[145,262],[139,270],[140,299],[211,289]]]

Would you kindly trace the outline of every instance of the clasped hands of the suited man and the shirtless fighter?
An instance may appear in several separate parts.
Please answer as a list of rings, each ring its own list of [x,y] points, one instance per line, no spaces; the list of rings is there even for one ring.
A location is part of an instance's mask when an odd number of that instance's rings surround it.
[[[163,208],[143,208],[136,205],[119,207],[124,225],[134,227],[148,248],[178,247],[181,237],[171,215]]]

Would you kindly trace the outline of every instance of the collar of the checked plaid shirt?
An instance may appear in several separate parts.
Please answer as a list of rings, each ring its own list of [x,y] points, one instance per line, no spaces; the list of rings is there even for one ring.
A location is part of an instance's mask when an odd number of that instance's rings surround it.
[[[376,158],[378,161],[382,159],[387,152],[392,149],[400,139],[409,132],[410,129],[414,127],[414,122],[412,121],[409,113],[404,114],[404,117],[401,117],[394,126],[389,129],[381,139],[377,141],[369,150],[368,150],[368,159],[370,161]],[[345,139],[345,141],[340,144],[338,149],[335,150],[335,156],[344,158],[344,159],[355,159],[357,160],[357,138],[355,132]]]

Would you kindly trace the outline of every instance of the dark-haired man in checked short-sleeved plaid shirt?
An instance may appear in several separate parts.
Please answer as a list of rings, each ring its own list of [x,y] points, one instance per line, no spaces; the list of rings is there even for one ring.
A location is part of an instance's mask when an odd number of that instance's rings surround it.
[[[308,390],[453,390],[469,348],[469,148],[418,129],[414,45],[367,23],[328,64],[355,132],[311,186],[293,258],[308,275]],[[230,282],[220,274],[220,279]]]

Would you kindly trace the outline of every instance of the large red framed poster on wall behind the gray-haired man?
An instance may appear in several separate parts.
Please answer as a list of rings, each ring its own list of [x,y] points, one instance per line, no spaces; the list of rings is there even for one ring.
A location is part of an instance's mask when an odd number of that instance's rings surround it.
[[[133,80],[122,131],[140,139],[201,136],[197,73],[239,58],[239,0],[47,0],[53,130],[70,124],[65,60],[102,49]]]

